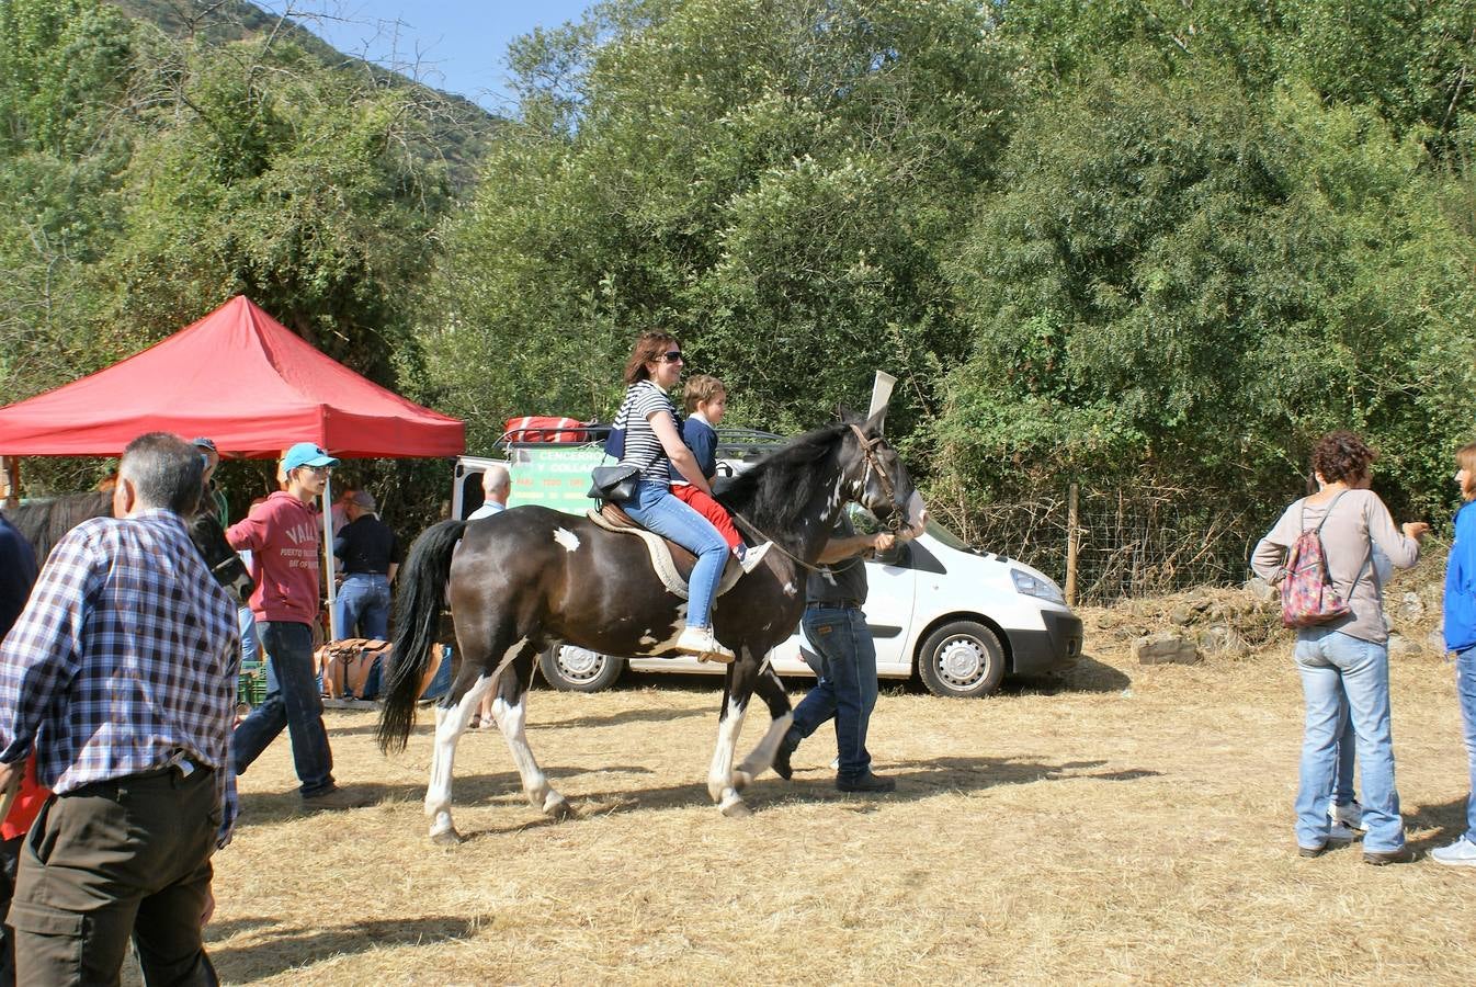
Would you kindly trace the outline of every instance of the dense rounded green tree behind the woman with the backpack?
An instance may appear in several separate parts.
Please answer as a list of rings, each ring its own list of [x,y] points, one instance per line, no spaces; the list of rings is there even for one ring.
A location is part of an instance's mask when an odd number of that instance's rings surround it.
[[[953,485],[1255,503],[1342,426],[1383,447],[1395,502],[1432,508],[1467,428],[1432,410],[1476,381],[1470,242],[1421,156],[1371,111],[1299,89],[1262,111],[1215,75],[1041,103],[955,267],[976,322],[937,432]]]

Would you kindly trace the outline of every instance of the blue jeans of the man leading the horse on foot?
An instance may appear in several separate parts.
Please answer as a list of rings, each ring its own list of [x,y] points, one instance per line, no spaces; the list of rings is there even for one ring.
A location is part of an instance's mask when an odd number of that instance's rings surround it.
[[[794,708],[785,742],[793,749],[834,717],[835,778],[855,780],[871,770],[866,727],[877,708],[877,646],[866,615],[855,606],[806,606],[804,637],[819,655],[819,680]]]

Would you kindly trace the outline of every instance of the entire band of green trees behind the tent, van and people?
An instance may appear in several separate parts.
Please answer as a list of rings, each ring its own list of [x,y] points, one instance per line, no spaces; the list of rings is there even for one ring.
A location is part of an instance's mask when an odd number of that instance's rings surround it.
[[[965,522],[1072,479],[1265,513],[1339,426],[1438,519],[1473,52],[1469,0],[607,0],[512,46],[493,128],[239,0],[0,0],[0,391],[246,292],[484,450],[608,418],[661,326],[734,423],[897,373]],[[435,513],[434,466],[363,469]]]

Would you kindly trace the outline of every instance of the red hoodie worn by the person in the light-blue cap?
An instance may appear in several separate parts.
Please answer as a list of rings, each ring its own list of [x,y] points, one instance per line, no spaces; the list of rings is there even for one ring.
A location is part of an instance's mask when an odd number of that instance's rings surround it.
[[[311,508],[279,490],[226,531],[230,547],[251,549],[257,574],[251,612],[257,620],[311,624],[317,618],[322,524]]]

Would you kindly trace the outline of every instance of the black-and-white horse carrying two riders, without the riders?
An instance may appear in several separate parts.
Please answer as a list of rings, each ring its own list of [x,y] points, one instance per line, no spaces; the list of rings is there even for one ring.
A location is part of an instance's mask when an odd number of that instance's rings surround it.
[[[773,763],[790,726],[790,699],[765,658],[800,623],[806,569],[825,546],[837,512],[859,502],[894,528],[922,522],[921,497],[881,438],[881,418],[801,435],[720,496],[741,525],[775,543],[765,565],[739,578],[713,609],[717,639],[737,655],[723,680],[707,775],[708,794],[723,814],[747,813],[739,789]],[[431,838],[459,839],[450,811],[456,741],[481,698],[494,690],[496,721],[528,800],[551,816],[570,814],[524,733],[534,659],[551,640],[613,655],[675,657],[682,654],[676,643],[688,623],[686,602],[655,574],[642,538],[607,531],[589,518],[523,506],[472,524],[443,521],[416,540],[401,571],[396,658],[379,720],[385,751],[403,748],[409,738],[447,600],[462,665],[435,711],[425,792]],[[734,749],[754,692],[769,708],[769,729],[735,767]]]

